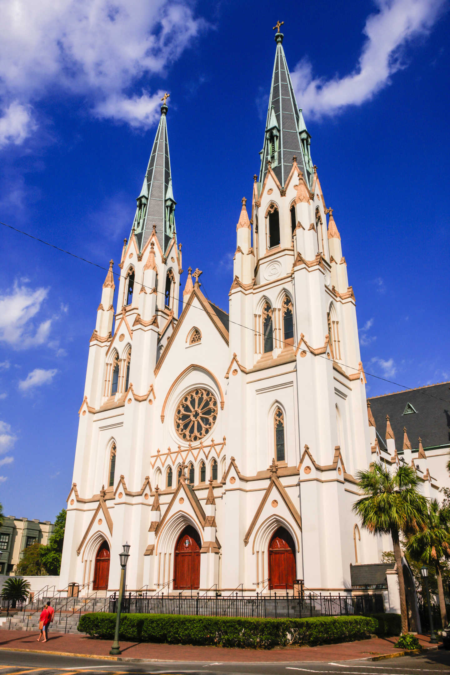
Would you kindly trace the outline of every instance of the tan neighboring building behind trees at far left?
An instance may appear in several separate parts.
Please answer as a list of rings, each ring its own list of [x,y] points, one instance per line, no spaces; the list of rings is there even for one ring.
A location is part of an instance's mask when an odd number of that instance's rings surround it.
[[[0,527],[0,574],[14,574],[24,550],[34,543],[47,544],[55,525],[49,520],[5,516]]]

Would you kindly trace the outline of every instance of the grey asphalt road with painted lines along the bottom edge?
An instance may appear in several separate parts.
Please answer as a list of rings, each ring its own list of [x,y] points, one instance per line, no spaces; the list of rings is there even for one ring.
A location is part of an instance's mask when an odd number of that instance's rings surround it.
[[[53,654],[0,651],[0,675],[159,675],[208,673],[208,675],[436,675],[450,670],[450,651],[424,656],[405,656],[386,661],[339,663],[221,664],[221,663],[127,663]]]

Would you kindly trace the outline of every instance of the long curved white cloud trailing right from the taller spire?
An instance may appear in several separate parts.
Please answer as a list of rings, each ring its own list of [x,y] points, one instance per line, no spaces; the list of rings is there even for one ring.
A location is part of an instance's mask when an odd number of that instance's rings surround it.
[[[335,115],[348,105],[370,101],[397,70],[406,67],[402,49],[414,37],[428,34],[446,0],[375,0],[375,4],[378,13],[366,20],[366,41],[353,72],[325,80],[314,78],[307,59],[294,68],[293,86],[308,114]]]

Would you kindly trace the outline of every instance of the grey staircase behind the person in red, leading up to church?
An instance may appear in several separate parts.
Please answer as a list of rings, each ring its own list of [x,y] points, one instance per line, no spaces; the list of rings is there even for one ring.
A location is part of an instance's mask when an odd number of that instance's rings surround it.
[[[90,612],[108,612],[109,599],[107,597],[63,597],[63,598],[43,598],[39,600],[38,609],[36,603],[29,603],[25,607],[25,612],[18,612],[11,617],[11,621],[5,624],[5,628],[10,630],[32,630],[39,631],[40,612],[46,601],[51,602],[55,610],[53,623],[49,630],[51,632],[78,633],[77,626],[81,614]]]

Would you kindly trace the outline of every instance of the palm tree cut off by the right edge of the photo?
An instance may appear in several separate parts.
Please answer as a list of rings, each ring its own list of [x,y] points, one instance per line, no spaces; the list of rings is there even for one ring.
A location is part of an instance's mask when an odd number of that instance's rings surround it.
[[[441,607],[442,627],[447,626],[444,587],[442,583],[442,561],[450,558],[450,508],[440,506],[437,499],[428,503],[426,529],[411,535],[407,550],[416,562],[432,566],[436,571],[439,607]]]

